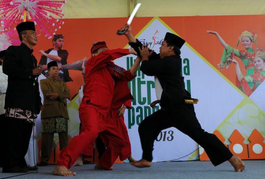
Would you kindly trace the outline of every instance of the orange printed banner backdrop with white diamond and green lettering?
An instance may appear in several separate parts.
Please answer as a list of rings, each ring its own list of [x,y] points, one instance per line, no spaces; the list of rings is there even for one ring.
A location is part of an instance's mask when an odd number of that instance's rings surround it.
[[[56,33],[62,33],[65,36],[63,49],[69,52],[68,63],[85,56],[90,57],[93,42],[105,40],[109,49],[129,48],[127,39],[115,34],[126,21],[127,18],[65,19],[64,26]],[[186,89],[193,98],[199,99],[199,103],[195,105],[195,112],[202,128],[211,133],[218,130],[228,146],[235,142],[232,141],[231,136],[236,129],[242,136],[243,144],[252,146],[249,137],[254,129],[257,129],[263,140],[261,139],[256,147],[253,146],[253,151],[261,154],[259,158],[265,158],[265,83],[263,82],[265,68],[260,68],[263,65],[262,62],[258,66],[254,65],[255,72],[260,72],[259,75],[262,76],[257,79],[247,77],[256,86],[249,96],[244,94],[237,86],[234,63],[231,63],[227,69],[218,70],[217,64],[220,63],[223,47],[218,39],[213,34],[207,34],[206,30],[217,31],[227,44],[242,52],[245,49],[240,42],[236,47],[238,37],[242,31],[250,30],[257,34],[258,40],[257,45],[252,43],[252,48],[265,49],[265,29],[261,26],[264,21],[264,15],[251,15],[135,18],[132,22],[133,34],[156,52],[159,52],[159,46],[166,32],[175,33],[186,40],[181,49],[182,74],[185,77]],[[38,51],[47,50],[51,46],[51,39],[40,36],[38,45],[34,47],[34,55],[40,59]],[[116,59],[115,63],[129,70],[134,59],[134,55],[128,55]],[[245,77],[246,70],[242,60],[238,57],[235,59]],[[81,72],[74,70],[70,70],[70,77],[74,81],[67,82],[67,85],[73,97],[83,85],[83,79]],[[138,70],[137,77],[129,85],[134,100],[132,109],[126,110],[125,123],[132,144],[132,156],[140,159],[142,150],[137,131],[138,125],[146,116],[157,111],[159,106],[155,109],[149,106],[156,100],[154,77],[147,77]],[[78,108],[79,100],[76,96],[68,102],[70,138],[79,133]],[[175,120],[182,119],[176,116]],[[40,129],[39,121],[37,132]],[[40,137],[38,135],[39,139]],[[239,137],[237,139],[239,140]],[[55,136],[54,142],[56,146],[58,137]],[[239,155],[244,152],[243,144],[233,145],[234,147],[229,149]],[[198,147],[198,144],[185,134],[175,128],[168,128],[161,131],[155,141],[154,161],[195,160],[199,158],[199,153],[203,154],[203,149],[200,148],[199,152]]]

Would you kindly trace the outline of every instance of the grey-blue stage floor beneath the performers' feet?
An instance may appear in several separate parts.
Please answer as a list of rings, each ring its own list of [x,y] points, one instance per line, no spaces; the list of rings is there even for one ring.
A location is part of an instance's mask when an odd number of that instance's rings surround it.
[[[244,172],[234,172],[229,162],[214,167],[210,161],[157,162],[139,169],[128,163],[114,164],[112,171],[95,171],[94,164],[73,167],[75,179],[265,179],[265,160],[244,160]],[[38,172],[11,179],[62,179],[53,176],[55,165],[39,167]],[[0,168],[1,172],[1,168]],[[16,174],[0,173],[0,179]]]

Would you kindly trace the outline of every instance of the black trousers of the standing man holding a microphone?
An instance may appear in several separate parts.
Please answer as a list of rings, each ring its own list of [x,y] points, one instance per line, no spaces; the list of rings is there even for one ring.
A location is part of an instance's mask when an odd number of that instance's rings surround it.
[[[4,146],[3,170],[13,167],[26,167],[25,155],[32,132],[32,123],[23,119],[6,118],[6,141]]]

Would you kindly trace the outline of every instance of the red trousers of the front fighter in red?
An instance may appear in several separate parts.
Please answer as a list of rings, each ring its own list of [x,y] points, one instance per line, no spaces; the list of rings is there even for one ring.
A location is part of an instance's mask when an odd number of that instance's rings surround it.
[[[87,153],[85,152],[87,150],[92,151],[94,142],[100,133],[107,149],[99,162],[104,169],[110,169],[127,145],[123,139],[123,131],[118,129],[119,123],[110,115],[111,113],[104,117],[91,106],[79,109],[81,132],[73,137],[68,146],[60,152],[57,165],[71,168],[80,154]]]

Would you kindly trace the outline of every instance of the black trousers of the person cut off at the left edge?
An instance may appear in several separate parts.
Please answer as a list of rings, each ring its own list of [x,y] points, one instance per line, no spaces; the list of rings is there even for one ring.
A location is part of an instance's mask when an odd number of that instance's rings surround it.
[[[3,165],[4,148],[6,144],[6,120],[5,114],[0,115],[0,167]]]

